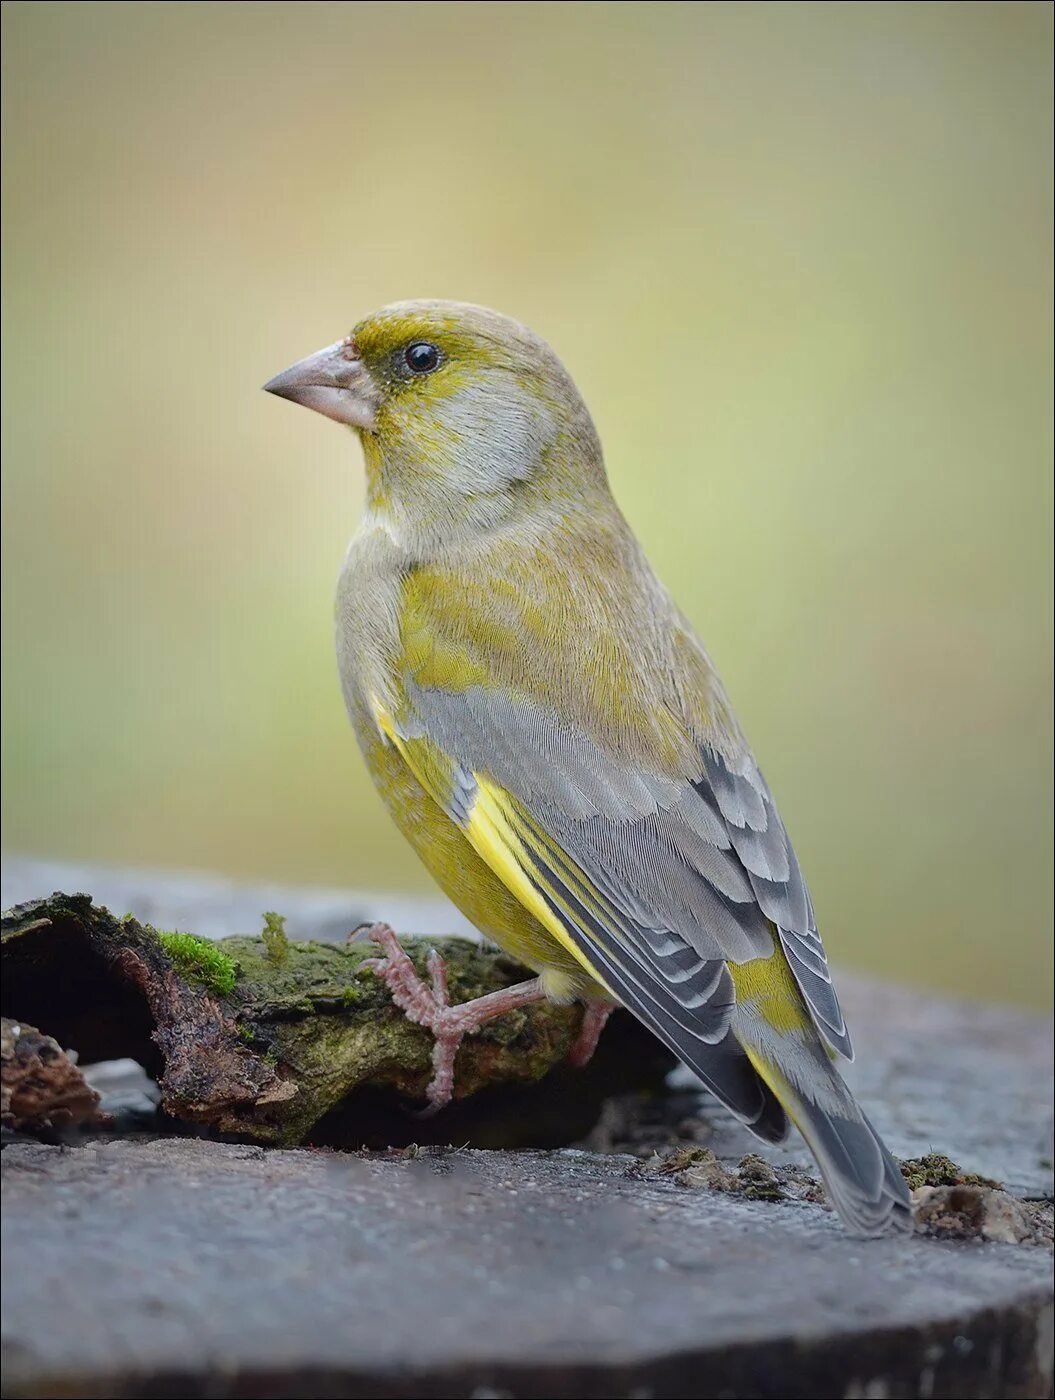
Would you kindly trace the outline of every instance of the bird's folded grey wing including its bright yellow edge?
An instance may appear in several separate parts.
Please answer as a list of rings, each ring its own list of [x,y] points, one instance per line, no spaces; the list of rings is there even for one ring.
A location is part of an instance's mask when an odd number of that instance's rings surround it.
[[[824,1037],[842,1054],[849,1042],[806,886],[750,756],[733,767],[701,749],[693,780],[672,778],[483,686],[410,682],[399,721],[379,718],[544,927],[735,1112],[761,1131],[768,1116],[781,1135],[775,1100],[733,1053],[726,963],[770,958],[779,938]]]

